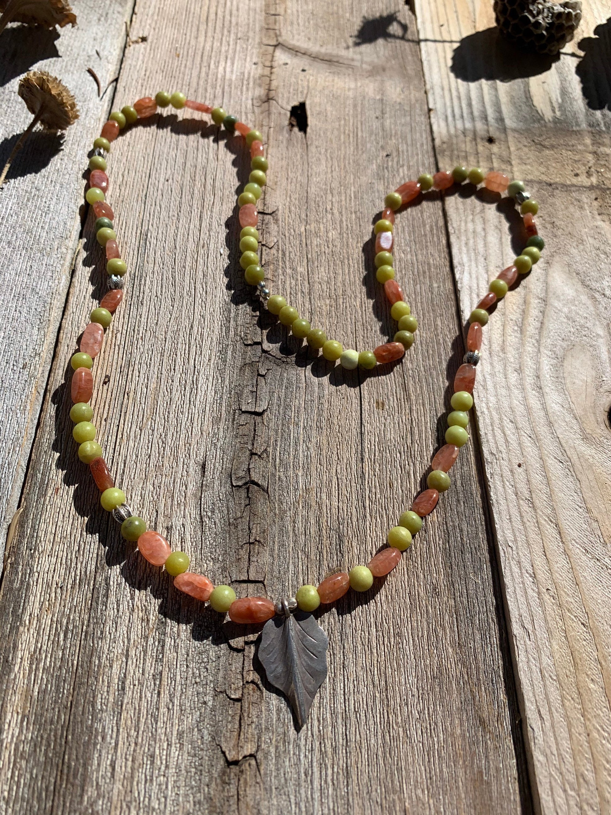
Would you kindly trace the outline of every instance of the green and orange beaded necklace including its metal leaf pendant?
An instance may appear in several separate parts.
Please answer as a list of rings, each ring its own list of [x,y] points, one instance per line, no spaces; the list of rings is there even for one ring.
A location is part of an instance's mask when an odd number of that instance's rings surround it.
[[[372,370],[377,365],[401,359],[414,342],[418,328],[415,316],[403,297],[402,289],[394,279],[393,243],[395,212],[409,204],[421,194],[431,189],[443,191],[454,184],[464,182],[475,186],[483,184],[491,192],[507,192],[520,206],[528,238],[525,249],[515,258],[512,265],[490,283],[489,291],[469,316],[467,353],[459,366],[454,379],[454,394],[451,397],[452,411],[447,416],[446,444],[433,457],[431,472],[427,477],[427,489],[420,492],[411,504],[411,509],[402,513],[397,526],[389,531],[388,546],[374,555],[367,566],[354,566],[348,572],[336,572],[323,579],[318,586],[304,585],[294,597],[284,597],[273,602],[267,597],[235,597],[229,585],[216,585],[204,575],[189,571],[191,565],[184,552],[172,552],[169,543],[156,531],[147,530],[143,518],[135,515],[126,503],[125,492],[115,486],[115,482],[103,459],[102,447],[95,441],[96,430],[91,424],[93,411],[90,400],[93,395],[94,378],[91,373],[93,360],[102,347],[104,332],[112,322],[112,314],[121,304],[124,295],[124,275],[127,271],[125,260],[121,258],[114,231],[114,214],[106,202],[108,175],[106,156],[111,142],[121,130],[134,125],[138,119],[155,114],[158,108],[172,105],[176,109],[188,108],[209,113],[217,126],[222,126],[230,134],[240,134],[248,145],[251,156],[251,173],[248,183],[238,197],[240,220],[240,266],[244,278],[261,299],[262,306],[298,339],[306,340],[310,349],[321,351],[323,357],[332,363],[339,360],[342,368]],[[482,327],[489,319],[490,307],[501,300],[508,289],[525,275],[532,265],[538,262],[544,242],[538,236],[534,215],[538,204],[525,192],[521,181],[510,183],[507,175],[499,172],[484,174],[479,168],[468,170],[457,166],[451,172],[422,174],[416,181],[402,184],[385,197],[384,209],[373,227],[375,236],[376,279],[383,285],[391,309],[390,315],[398,323],[398,331],[393,341],[377,346],[374,350],[345,349],[340,342],[327,339],[321,328],[312,328],[297,309],[289,306],[279,294],[270,294],[258,256],[259,233],[257,231],[257,200],[262,196],[266,184],[267,160],[264,156],[262,134],[251,130],[236,117],[227,115],[222,108],[212,108],[207,104],[186,99],[181,93],[169,95],[160,92],[155,99],[150,96],[138,99],[133,107],[125,106],[121,111],[112,112],[95,139],[94,153],[89,161],[90,178],[86,200],[95,213],[95,231],[99,245],[105,249],[106,270],[108,272],[108,293],[99,307],[90,313],[90,323],[82,333],[80,350],[73,355],[71,365],[72,401],[70,418],[74,422],[73,438],[78,443],[78,457],[90,466],[91,474],[101,492],[103,509],[112,513],[121,524],[121,535],[125,540],[137,542],[138,550],[152,566],[161,566],[174,579],[174,586],[182,593],[209,602],[213,610],[221,615],[229,614],[234,623],[261,625],[262,641],[259,659],[272,685],[284,691],[292,703],[297,725],[302,726],[310,711],[314,694],[319,689],[327,673],[327,636],[316,623],[312,612],[321,604],[328,605],[339,600],[352,589],[367,592],[375,579],[388,575],[401,560],[402,552],[409,548],[412,535],[420,531],[423,518],[433,511],[442,492],[450,487],[450,471],[459,455],[460,447],[468,441],[468,411],[473,407],[473,386],[476,366],[480,359]]]

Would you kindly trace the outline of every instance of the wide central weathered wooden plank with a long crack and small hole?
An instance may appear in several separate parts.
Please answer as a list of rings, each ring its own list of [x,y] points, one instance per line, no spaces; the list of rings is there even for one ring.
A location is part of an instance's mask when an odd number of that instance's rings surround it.
[[[393,333],[372,282],[371,218],[433,149],[417,44],[359,46],[360,24],[349,2],[143,2],[132,36],[148,42],[126,52],[116,99],[163,84],[262,126],[272,285],[363,348]],[[288,124],[304,100],[306,134]],[[248,157],[192,119],[166,112],[110,157],[130,272],[95,362],[95,419],[147,522],[215,583],[277,598],[367,562],[420,488],[462,355],[446,227],[434,200],[398,219],[398,270],[422,327],[406,361],[373,377],[331,371],[257,317],[237,268]],[[7,810],[528,809],[473,447],[380,591],[322,615],[330,675],[297,734],[257,670],[256,637],[145,566],[76,459],[66,365],[91,280],[103,290],[91,227],[90,216],[0,593]]]

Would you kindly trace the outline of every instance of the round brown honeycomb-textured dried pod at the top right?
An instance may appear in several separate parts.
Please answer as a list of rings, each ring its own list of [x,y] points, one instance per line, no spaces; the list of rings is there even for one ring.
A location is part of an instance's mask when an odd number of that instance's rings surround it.
[[[495,0],[495,20],[503,36],[539,54],[557,54],[573,39],[581,19],[581,0]]]

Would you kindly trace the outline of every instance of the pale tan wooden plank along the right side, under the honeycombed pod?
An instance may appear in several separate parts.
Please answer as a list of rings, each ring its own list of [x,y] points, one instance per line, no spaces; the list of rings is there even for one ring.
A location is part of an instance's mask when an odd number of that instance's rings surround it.
[[[477,420],[545,813],[611,809],[611,115],[593,92],[604,91],[609,39],[595,29],[609,4],[583,11],[551,63],[497,45],[488,3],[416,3],[439,164],[506,170],[541,202],[543,260],[486,328]],[[466,318],[511,261],[516,220],[477,196],[446,210]]]

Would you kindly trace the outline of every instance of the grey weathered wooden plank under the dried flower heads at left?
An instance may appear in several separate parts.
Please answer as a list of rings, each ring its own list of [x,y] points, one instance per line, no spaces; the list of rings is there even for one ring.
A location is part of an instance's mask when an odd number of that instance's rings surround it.
[[[81,231],[82,156],[108,116],[112,93],[98,98],[116,77],[133,0],[76,8],[76,28],[49,32],[11,25],[2,33],[0,60],[0,165],[32,120],[17,95],[29,69],[59,77],[73,92],[81,118],[64,141],[34,131],[0,191],[0,557],[23,489],[59,321],[64,311]],[[77,168],[79,170],[77,171]],[[20,326],[20,330],[15,330]]]

